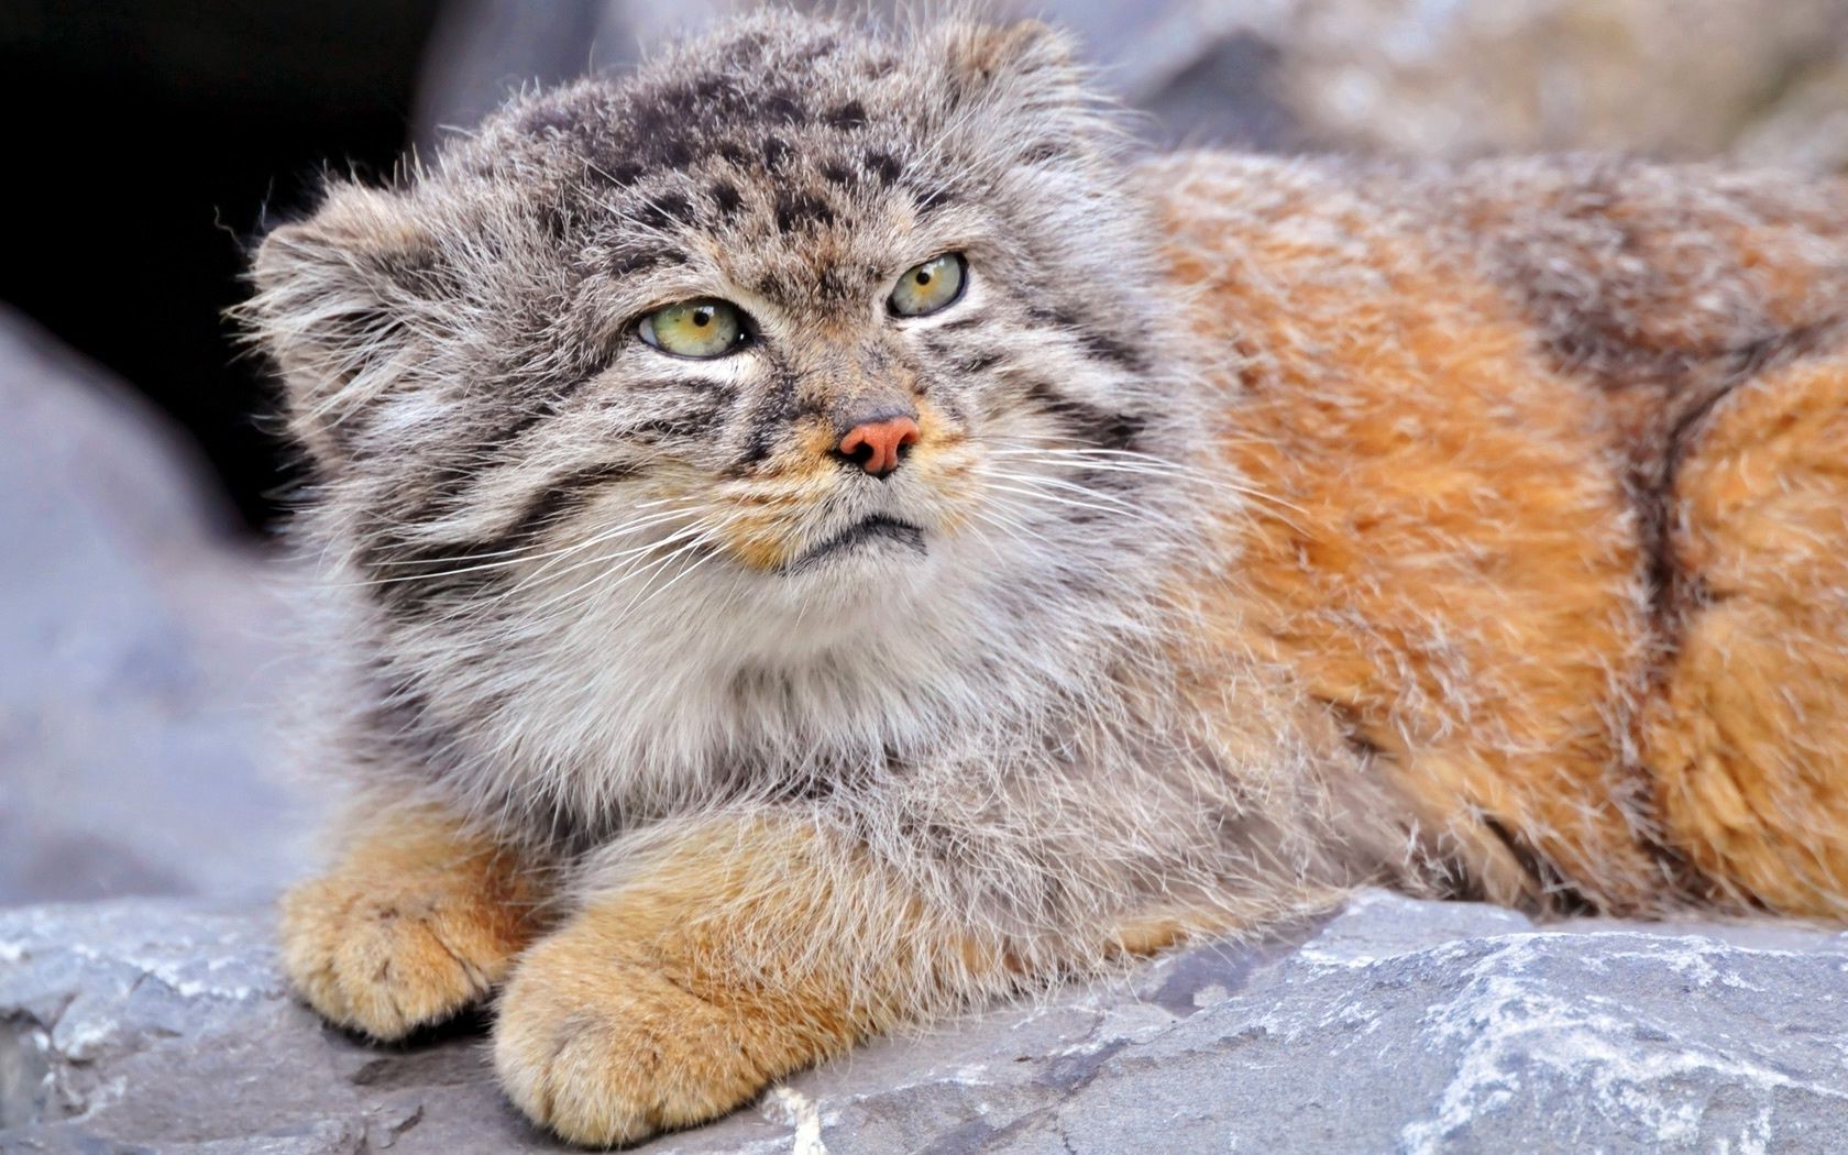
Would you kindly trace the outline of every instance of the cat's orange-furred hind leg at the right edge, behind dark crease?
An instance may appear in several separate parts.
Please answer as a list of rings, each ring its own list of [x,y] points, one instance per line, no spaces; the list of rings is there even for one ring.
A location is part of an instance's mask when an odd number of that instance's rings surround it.
[[[1645,726],[1669,843],[1720,894],[1848,915],[1848,359],[1730,394],[1678,471],[1687,608]]]

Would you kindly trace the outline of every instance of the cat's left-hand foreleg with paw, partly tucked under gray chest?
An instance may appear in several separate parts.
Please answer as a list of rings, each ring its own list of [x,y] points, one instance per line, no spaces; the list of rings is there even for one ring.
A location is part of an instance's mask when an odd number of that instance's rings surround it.
[[[281,965],[329,1020],[401,1039],[480,1002],[540,930],[534,865],[432,806],[349,819],[283,896]]]

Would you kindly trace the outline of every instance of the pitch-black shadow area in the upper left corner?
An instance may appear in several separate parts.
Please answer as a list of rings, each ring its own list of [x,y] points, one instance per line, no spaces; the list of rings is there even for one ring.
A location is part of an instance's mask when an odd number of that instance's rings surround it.
[[[440,0],[0,0],[13,231],[0,299],[190,429],[244,521],[277,514],[262,364],[222,310],[242,246],[323,164],[388,172]]]

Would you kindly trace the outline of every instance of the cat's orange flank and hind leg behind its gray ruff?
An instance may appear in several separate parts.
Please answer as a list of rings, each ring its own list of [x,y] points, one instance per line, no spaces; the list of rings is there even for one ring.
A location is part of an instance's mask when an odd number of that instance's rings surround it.
[[[1233,157],[1149,176],[1194,334],[1242,351],[1225,451],[1268,495],[1229,527],[1227,639],[1327,702],[1491,898],[1545,900],[1539,881],[1610,911],[1841,917],[1848,371],[1811,357],[1739,384],[1752,334],[1800,359],[1828,340],[1839,274],[1805,229],[1835,222],[1772,203],[1752,224],[1769,194],[1746,183],[1719,207],[1600,194],[1628,270],[1545,251],[1610,281],[1621,329],[1562,364],[1526,286],[1434,213],[1545,235],[1567,181],[1395,179]],[[1678,510],[1656,606],[1637,484]]]

